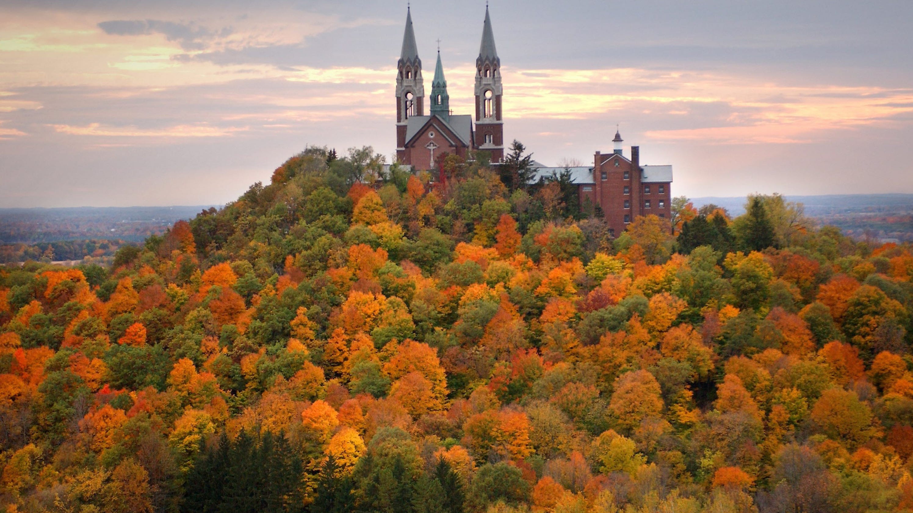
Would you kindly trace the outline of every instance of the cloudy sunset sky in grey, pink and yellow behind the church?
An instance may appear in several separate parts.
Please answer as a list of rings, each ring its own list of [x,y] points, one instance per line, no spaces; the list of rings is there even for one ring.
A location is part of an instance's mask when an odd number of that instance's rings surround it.
[[[471,113],[484,0],[411,4]],[[490,0],[505,138],[674,195],[913,193],[909,0]],[[404,2],[0,0],[0,207],[224,204],[309,145],[391,161]],[[628,150],[625,150],[627,153]]]

